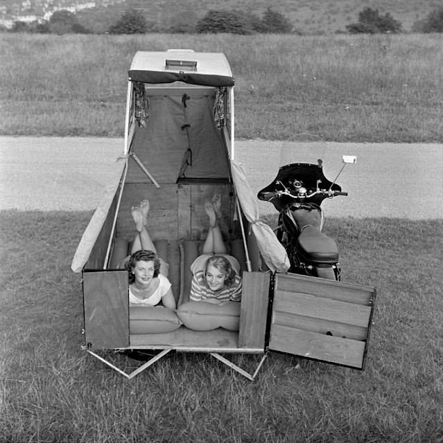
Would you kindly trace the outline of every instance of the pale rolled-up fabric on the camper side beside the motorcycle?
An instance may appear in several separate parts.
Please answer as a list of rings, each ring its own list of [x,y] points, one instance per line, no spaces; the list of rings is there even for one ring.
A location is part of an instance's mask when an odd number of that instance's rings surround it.
[[[263,260],[272,271],[286,272],[290,267],[285,248],[278,241],[274,232],[267,224],[260,221],[257,199],[247,182],[245,171],[236,160],[231,160],[232,179],[236,188],[238,201],[247,221],[252,225],[252,231],[257,239],[257,244]]]

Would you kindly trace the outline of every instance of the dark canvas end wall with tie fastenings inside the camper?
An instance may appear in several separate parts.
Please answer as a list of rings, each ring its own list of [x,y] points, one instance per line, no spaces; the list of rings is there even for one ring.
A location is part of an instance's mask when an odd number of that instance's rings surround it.
[[[157,182],[175,183],[179,177],[228,179],[227,151],[212,115],[214,96],[205,89],[189,87],[169,91],[167,96],[147,93],[148,125],[135,128],[131,151]],[[182,103],[185,93],[189,98],[186,107]],[[186,151],[191,155],[189,161],[185,161]],[[131,163],[130,182],[142,174],[139,166]]]

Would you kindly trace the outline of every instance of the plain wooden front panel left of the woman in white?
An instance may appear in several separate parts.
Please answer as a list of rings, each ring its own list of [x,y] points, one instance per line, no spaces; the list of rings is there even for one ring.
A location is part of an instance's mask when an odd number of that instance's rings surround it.
[[[128,271],[83,271],[83,307],[87,347],[129,346]]]

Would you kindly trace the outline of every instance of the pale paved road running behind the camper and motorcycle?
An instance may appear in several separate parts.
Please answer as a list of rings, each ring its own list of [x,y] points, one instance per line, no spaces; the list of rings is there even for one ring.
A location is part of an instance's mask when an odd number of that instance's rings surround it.
[[[0,136],[0,209],[91,210],[120,169],[120,138]],[[333,180],[342,154],[356,155],[338,183],[349,197],[324,202],[333,217],[443,219],[443,145],[236,142],[236,158],[257,192],[279,165],[323,160]],[[259,201],[262,214],[272,205]]]

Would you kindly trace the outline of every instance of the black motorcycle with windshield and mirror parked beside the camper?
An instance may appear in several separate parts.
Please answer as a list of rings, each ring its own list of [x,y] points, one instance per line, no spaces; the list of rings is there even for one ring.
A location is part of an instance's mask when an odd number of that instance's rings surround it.
[[[356,156],[342,156],[343,166],[336,179],[329,181],[318,164],[290,163],[281,166],[277,177],[258,193],[279,211],[275,234],[289,257],[289,272],[313,277],[340,280],[337,244],[322,232],[324,199],[347,196],[336,183],[347,163],[356,163]]]

